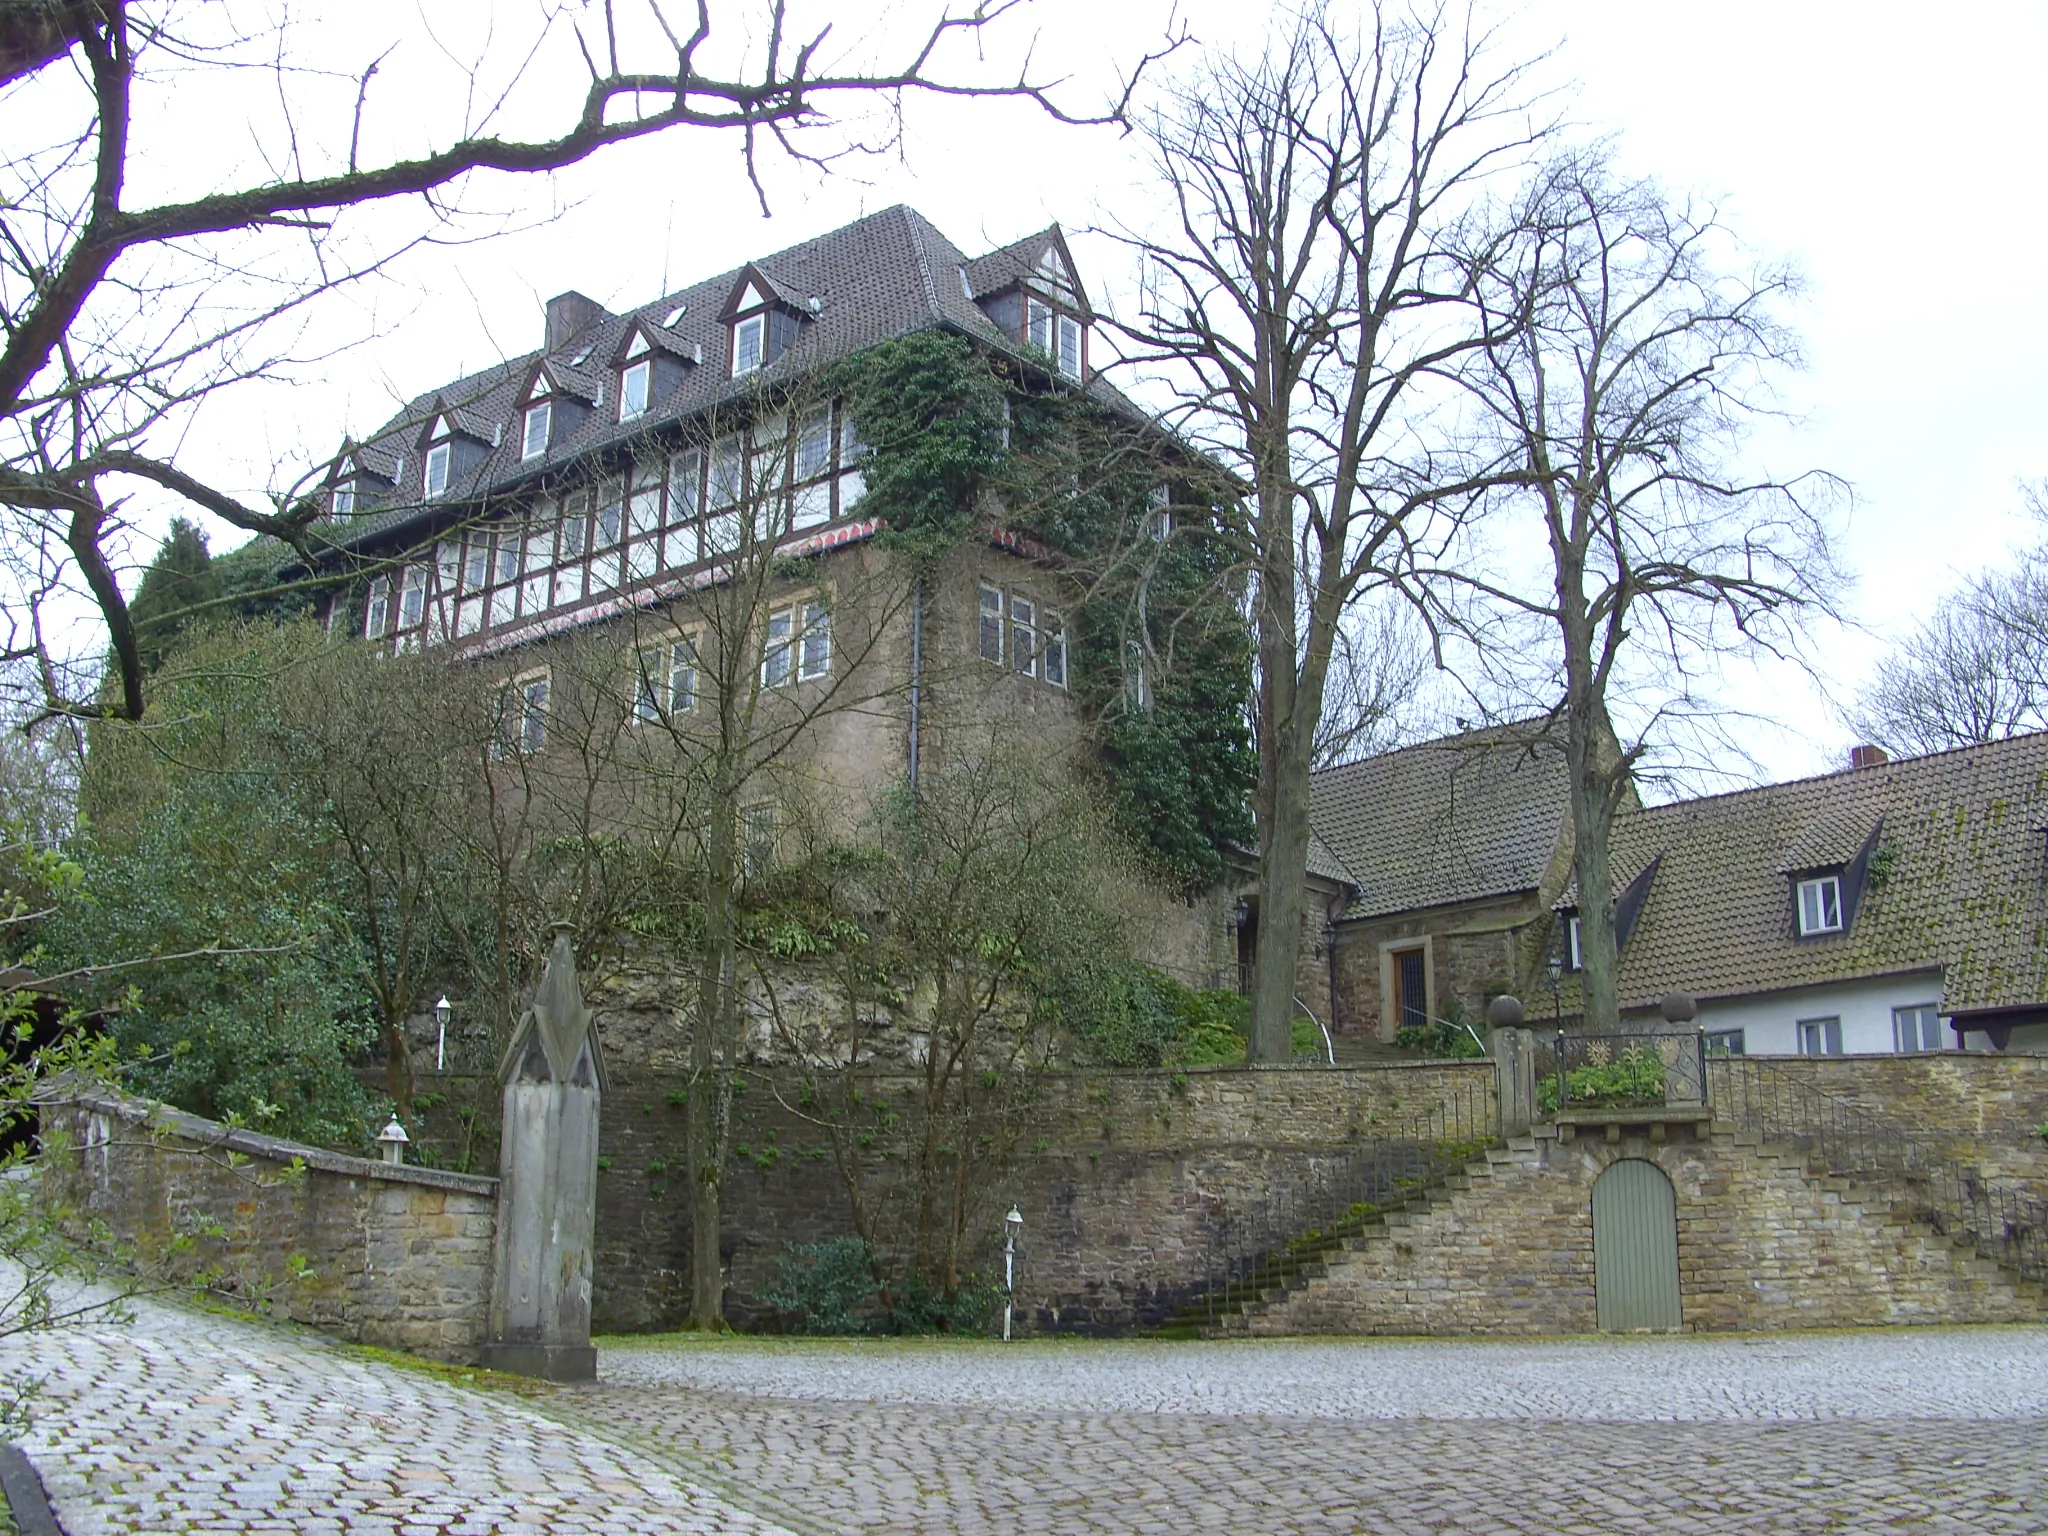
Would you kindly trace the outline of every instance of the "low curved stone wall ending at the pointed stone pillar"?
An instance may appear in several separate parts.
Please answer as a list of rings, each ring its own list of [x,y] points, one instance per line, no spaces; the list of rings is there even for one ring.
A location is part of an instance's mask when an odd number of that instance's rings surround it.
[[[358,1343],[471,1362],[498,1180],[233,1130],[119,1094],[43,1108],[45,1196],[135,1262]]]

